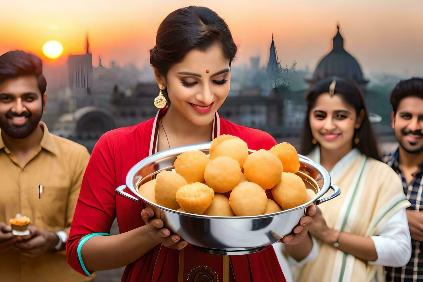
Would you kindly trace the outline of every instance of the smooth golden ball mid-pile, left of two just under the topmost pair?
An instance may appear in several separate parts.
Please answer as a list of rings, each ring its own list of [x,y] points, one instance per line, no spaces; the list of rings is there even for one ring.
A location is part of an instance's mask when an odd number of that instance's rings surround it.
[[[225,193],[238,184],[241,174],[241,168],[236,160],[220,156],[207,165],[204,179],[214,192]]]

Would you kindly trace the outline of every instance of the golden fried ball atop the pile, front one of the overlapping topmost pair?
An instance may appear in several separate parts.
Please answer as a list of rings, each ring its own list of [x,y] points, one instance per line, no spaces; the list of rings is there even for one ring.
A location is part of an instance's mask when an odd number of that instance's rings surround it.
[[[230,157],[238,161],[239,167],[242,167],[248,157],[247,143],[239,138],[225,140],[214,148],[213,153],[210,154],[210,159],[214,160],[220,156]]]

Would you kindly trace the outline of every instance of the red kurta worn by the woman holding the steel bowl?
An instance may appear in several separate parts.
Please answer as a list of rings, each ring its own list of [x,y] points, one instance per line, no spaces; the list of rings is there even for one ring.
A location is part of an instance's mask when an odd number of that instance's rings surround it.
[[[156,118],[135,126],[109,131],[96,143],[82,180],[67,241],[68,263],[81,274],[85,273],[78,259],[77,246],[83,236],[96,232],[110,233],[115,217],[121,233],[145,224],[141,218],[142,205],[121,197],[114,191],[125,184],[127,172],[137,162],[154,153],[157,145],[157,120],[163,113],[164,110],[159,111]],[[276,144],[275,139],[264,131],[239,126],[216,115],[212,138],[220,134],[238,136],[247,143],[248,148],[254,150],[270,149]],[[133,216],[134,214],[139,216]],[[191,254],[195,252],[195,257],[203,261],[202,265],[204,261],[216,257],[198,252],[190,246],[186,248],[190,248],[187,251]],[[236,281],[285,281],[272,247],[251,255],[231,256],[230,259]],[[177,282],[178,273],[179,251],[159,244],[126,266],[122,281]]]

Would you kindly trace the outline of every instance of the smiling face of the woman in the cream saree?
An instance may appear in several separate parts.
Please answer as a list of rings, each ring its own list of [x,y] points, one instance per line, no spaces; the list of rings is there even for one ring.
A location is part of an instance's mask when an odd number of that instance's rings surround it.
[[[351,150],[354,130],[360,128],[363,114],[357,118],[354,107],[340,95],[323,93],[310,110],[310,128],[313,137],[327,150]]]

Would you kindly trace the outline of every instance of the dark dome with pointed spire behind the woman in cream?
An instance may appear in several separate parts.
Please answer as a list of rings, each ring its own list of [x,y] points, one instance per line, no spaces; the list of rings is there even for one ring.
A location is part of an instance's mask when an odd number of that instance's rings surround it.
[[[313,77],[307,82],[312,87],[321,79],[337,76],[354,81],[363,93],[366,93],[368,80],[364,78],[358,61],[344,49],[343,38],[339,32],[339,26],[337,27],[338,32],[333,38],[332,51],[319,61]]]

